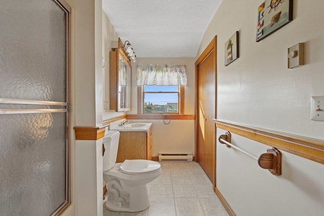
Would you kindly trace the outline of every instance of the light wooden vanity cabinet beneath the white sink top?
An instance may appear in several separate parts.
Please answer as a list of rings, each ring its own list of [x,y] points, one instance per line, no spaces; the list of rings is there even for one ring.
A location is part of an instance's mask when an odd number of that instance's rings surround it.
[[[152,159],[152,132],[120,131],[116,162],[126,159]]]

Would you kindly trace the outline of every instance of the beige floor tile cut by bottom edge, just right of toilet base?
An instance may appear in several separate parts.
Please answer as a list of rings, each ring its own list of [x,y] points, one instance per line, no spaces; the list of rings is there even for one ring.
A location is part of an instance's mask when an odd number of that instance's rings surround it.
[[[148,216],[176,216],[174,198],[150,198]]]

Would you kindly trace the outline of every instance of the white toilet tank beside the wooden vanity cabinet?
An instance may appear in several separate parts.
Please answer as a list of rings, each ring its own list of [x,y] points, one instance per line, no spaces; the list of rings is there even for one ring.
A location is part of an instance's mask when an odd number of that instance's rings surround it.
[[[117,158],[119,143],[119,132],[118,131],[106,131],[103,137],[103,145],[105,147],[105,153],[103,155],[103,171],[111,169]]]

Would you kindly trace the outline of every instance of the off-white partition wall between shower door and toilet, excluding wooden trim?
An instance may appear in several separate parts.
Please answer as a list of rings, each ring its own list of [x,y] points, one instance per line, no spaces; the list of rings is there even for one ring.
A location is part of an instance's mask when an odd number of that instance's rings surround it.
[[[67,0],[71,17],[71,205],[64,216],[102,215],[102,140],[75,140],[73,126],[102,123],[101,0]]]

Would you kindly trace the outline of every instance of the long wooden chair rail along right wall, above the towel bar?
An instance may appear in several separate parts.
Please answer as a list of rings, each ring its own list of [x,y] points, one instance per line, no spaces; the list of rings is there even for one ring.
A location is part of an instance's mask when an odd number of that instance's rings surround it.
[[[230,133],[324,164],[324,140],[270,131],[219,119],[214,120],[216,127]]]

